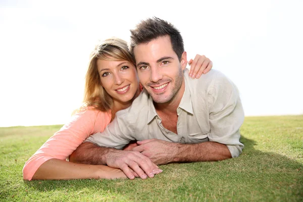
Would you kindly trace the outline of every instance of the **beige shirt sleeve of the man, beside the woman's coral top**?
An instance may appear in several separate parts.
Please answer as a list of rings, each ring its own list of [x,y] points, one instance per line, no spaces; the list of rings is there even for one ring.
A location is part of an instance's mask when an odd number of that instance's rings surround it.
[[[130,141],[135,140],[133,124],[128,123],[127,111],[117,112],[115,119],[102,133],[89,136],[85,142],[92,142],[98,146],[122,149]]]

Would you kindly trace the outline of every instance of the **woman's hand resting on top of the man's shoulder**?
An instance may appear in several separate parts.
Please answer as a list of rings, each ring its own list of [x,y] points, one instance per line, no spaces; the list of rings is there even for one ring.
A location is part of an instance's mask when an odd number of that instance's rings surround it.
[[[189,77],[193,79],[200,78],[202,74],[208,73],[213,67],[213,62],[209,58],[200,55],[196,55],[194,60],[190,59],[188,64],[190,65]]]

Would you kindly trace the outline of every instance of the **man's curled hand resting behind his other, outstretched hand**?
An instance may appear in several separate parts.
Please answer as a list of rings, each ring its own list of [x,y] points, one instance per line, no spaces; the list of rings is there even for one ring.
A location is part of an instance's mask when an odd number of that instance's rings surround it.
[[[137,143],[139,146],[134,147],[133,151],[139,151],[155,164],[159,165],[174,162],[174,157],[178,150],[178,143],[160,139],[146,139],[137,141]]]

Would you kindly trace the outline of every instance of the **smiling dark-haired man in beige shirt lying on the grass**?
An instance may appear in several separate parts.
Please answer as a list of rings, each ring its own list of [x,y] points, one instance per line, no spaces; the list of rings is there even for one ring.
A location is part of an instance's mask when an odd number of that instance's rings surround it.
[[[87,138],[73,161],[107,164],[133,179],[131,168],[144,179],[159,173],[149,160],[220,161],[241,154],[244,113],[237,88],[215,70],[190,79],[183,39],[173,25],[142,21],[131,30],[130,50],[144,91],[103,133]],[[140,140],[133,151],[117,150],[132,140]]]

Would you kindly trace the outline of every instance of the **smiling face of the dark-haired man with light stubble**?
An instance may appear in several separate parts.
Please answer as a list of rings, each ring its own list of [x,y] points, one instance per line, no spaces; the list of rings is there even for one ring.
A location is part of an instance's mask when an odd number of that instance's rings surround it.
[[[169,36],[158,37],[134,47],[138,76],[141,84],[156,103],[168,103],[183,83],[187,64],[186,52],[181,62],[173,51]]]

